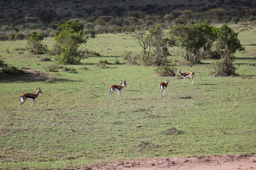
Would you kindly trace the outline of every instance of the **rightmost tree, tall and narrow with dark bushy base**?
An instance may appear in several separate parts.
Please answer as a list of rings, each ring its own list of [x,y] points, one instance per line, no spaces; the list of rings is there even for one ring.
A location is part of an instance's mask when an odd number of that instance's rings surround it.
[[[234,54],[237,51],[245,50],[238,40],[238,33],[223,25],[218,30],[218,38],[216,40],[216,51],[220,54],[221,61],[215,67],[216,76],[233,76],[235,75]]]

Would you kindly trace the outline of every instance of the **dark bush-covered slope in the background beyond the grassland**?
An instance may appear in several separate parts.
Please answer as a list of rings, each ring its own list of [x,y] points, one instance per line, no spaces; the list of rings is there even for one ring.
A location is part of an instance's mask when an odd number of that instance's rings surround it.
[[[123,33],[161,24],[256,21],[254,0],[202,1],[1,1],[0,40],[21,40],[33,31],[54,36],[68,20],[84,24],[85,33]]]

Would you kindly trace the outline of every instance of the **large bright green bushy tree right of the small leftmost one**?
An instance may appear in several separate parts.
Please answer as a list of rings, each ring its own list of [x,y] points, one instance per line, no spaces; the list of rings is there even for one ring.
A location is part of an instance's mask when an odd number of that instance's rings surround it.
[[[84,52],[79,50],[80,45],[86,43],[90,38],[95,38],[95,33],[85,35],[82,31],[82,23],[67,21],[58,28],[55,36],[55,50],[58,53],[56,60],[62,64],[78,64]]]

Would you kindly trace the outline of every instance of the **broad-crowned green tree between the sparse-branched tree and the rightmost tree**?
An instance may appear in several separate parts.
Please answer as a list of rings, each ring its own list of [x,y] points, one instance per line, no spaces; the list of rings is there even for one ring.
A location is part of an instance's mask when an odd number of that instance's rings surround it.
[[[196,23],[189,26],[178,25],[170,30],[170,39],[183,48],[185,60],[200,63],[201,57],[210,53],[213,42],[217,38],[218,28],[205,23]]]

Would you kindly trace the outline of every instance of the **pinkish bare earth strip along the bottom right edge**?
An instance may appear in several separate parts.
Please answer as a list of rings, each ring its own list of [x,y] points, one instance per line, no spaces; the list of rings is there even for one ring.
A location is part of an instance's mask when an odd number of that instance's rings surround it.
[[[127,169],[127,170],[255,170],[256,154],[236,154],[233,156],[176,157],[131,159],[78,167],[82,170]]]

